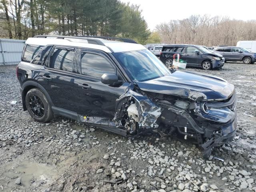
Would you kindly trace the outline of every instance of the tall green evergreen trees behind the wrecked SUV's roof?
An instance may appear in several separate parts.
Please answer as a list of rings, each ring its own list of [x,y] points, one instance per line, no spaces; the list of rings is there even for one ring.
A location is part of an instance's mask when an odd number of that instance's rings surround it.
[[[114,36],[144,44],[151,35],[140,7],[120,0],[0,0],[9,38]]]

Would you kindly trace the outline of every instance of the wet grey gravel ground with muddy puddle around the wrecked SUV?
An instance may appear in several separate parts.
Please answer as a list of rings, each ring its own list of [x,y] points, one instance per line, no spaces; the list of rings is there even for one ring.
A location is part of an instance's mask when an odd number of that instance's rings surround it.
[[[188,70],[220,76],[238,94],[237,134],[207,160],[158,134],[128,140],[63,117],[35,122],[22,110],[15,66],[0,66],[0,192],[256,192],[256,65]]]

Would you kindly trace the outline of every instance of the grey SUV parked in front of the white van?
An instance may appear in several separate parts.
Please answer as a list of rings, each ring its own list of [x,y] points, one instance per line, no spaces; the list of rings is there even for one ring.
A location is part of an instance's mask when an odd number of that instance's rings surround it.
[[[218,47],[214,52],[222,54],[226,61],[242,61],[244,64],[256,62],[256,53],[242,47]]]

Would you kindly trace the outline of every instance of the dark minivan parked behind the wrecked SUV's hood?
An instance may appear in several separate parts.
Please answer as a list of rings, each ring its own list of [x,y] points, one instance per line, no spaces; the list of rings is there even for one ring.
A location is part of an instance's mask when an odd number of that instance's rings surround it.
[[[180,58],[187,62],[187,66],[210,70],[214,68],[222,68],[224,65],[224,58],[221,54],[213,53],[198,45],[164,45],[159,58],[167,67],[171,67],[173,55],[176,53],[179,53]]]

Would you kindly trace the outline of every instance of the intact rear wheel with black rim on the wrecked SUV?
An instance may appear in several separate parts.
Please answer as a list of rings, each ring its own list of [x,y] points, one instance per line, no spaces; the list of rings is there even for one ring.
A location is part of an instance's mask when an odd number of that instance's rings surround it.
[[[39,122],[48,122],[53,118],[52,106],[44,93],[33,88],[26,94],[26,107],[30,116]]]

